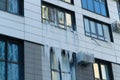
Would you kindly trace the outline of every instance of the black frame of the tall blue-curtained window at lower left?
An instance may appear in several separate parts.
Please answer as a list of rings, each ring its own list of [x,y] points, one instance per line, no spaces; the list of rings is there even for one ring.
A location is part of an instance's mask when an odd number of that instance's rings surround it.
[[[18,65],[18,76],[19,76],[19,80],[24,80],[24,49],[23,49],[23,41],[20,39],[16,39],[13,37],[8,37],[8,36],[4,36],[4,35],[0,35],[0,41],[4,41],[5,42],[5,59],[2,60],[0,59],[0,62],[4,62],[5,63],[5,80],[8,80],[8,64],[17,64]],[[18,61],[10,61],[8,60],[8,44],[12,43],[12,44],[16,44],[18,46]]]

